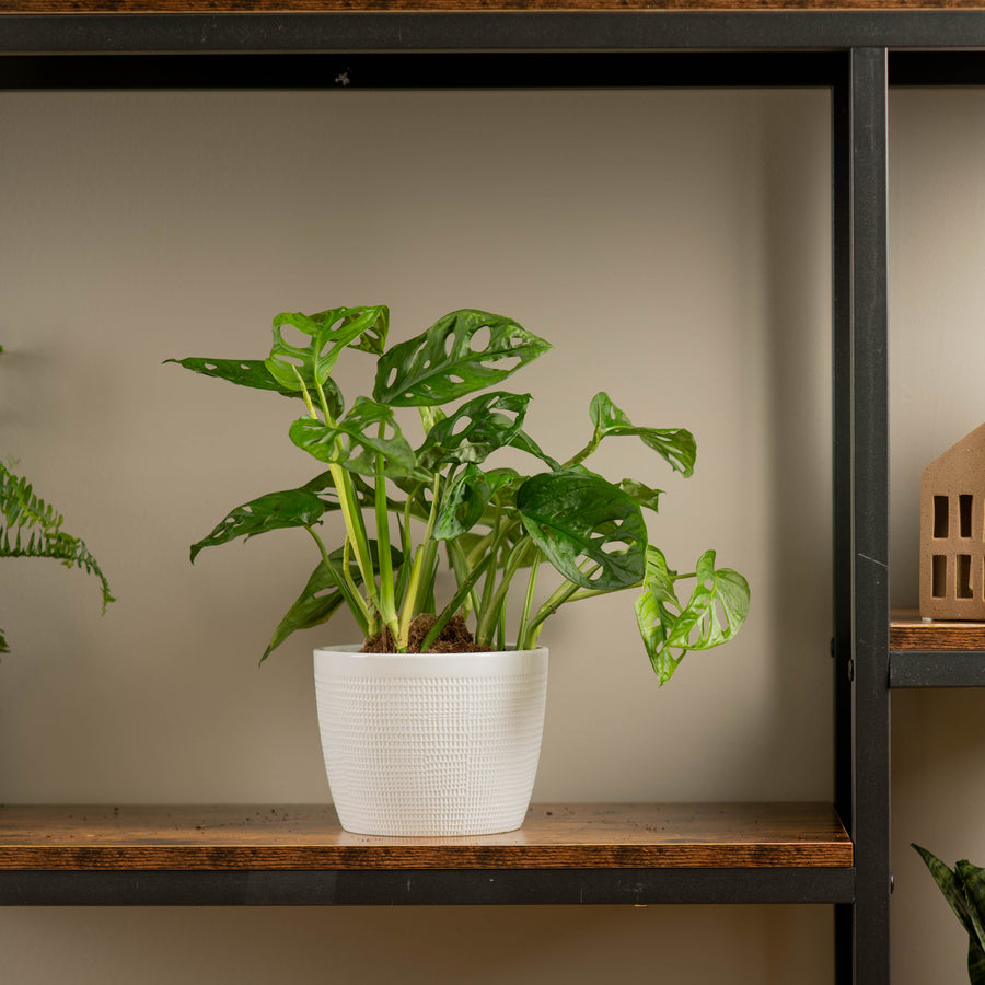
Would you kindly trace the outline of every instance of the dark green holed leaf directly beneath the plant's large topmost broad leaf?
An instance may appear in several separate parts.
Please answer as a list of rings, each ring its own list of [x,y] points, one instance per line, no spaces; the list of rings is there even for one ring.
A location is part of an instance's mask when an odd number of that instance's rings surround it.
[[[474,397],[428,431],[417,450],[427,468],[445,463],[484,462],[512,443],[526,415],[530,394],[494,391]]]

